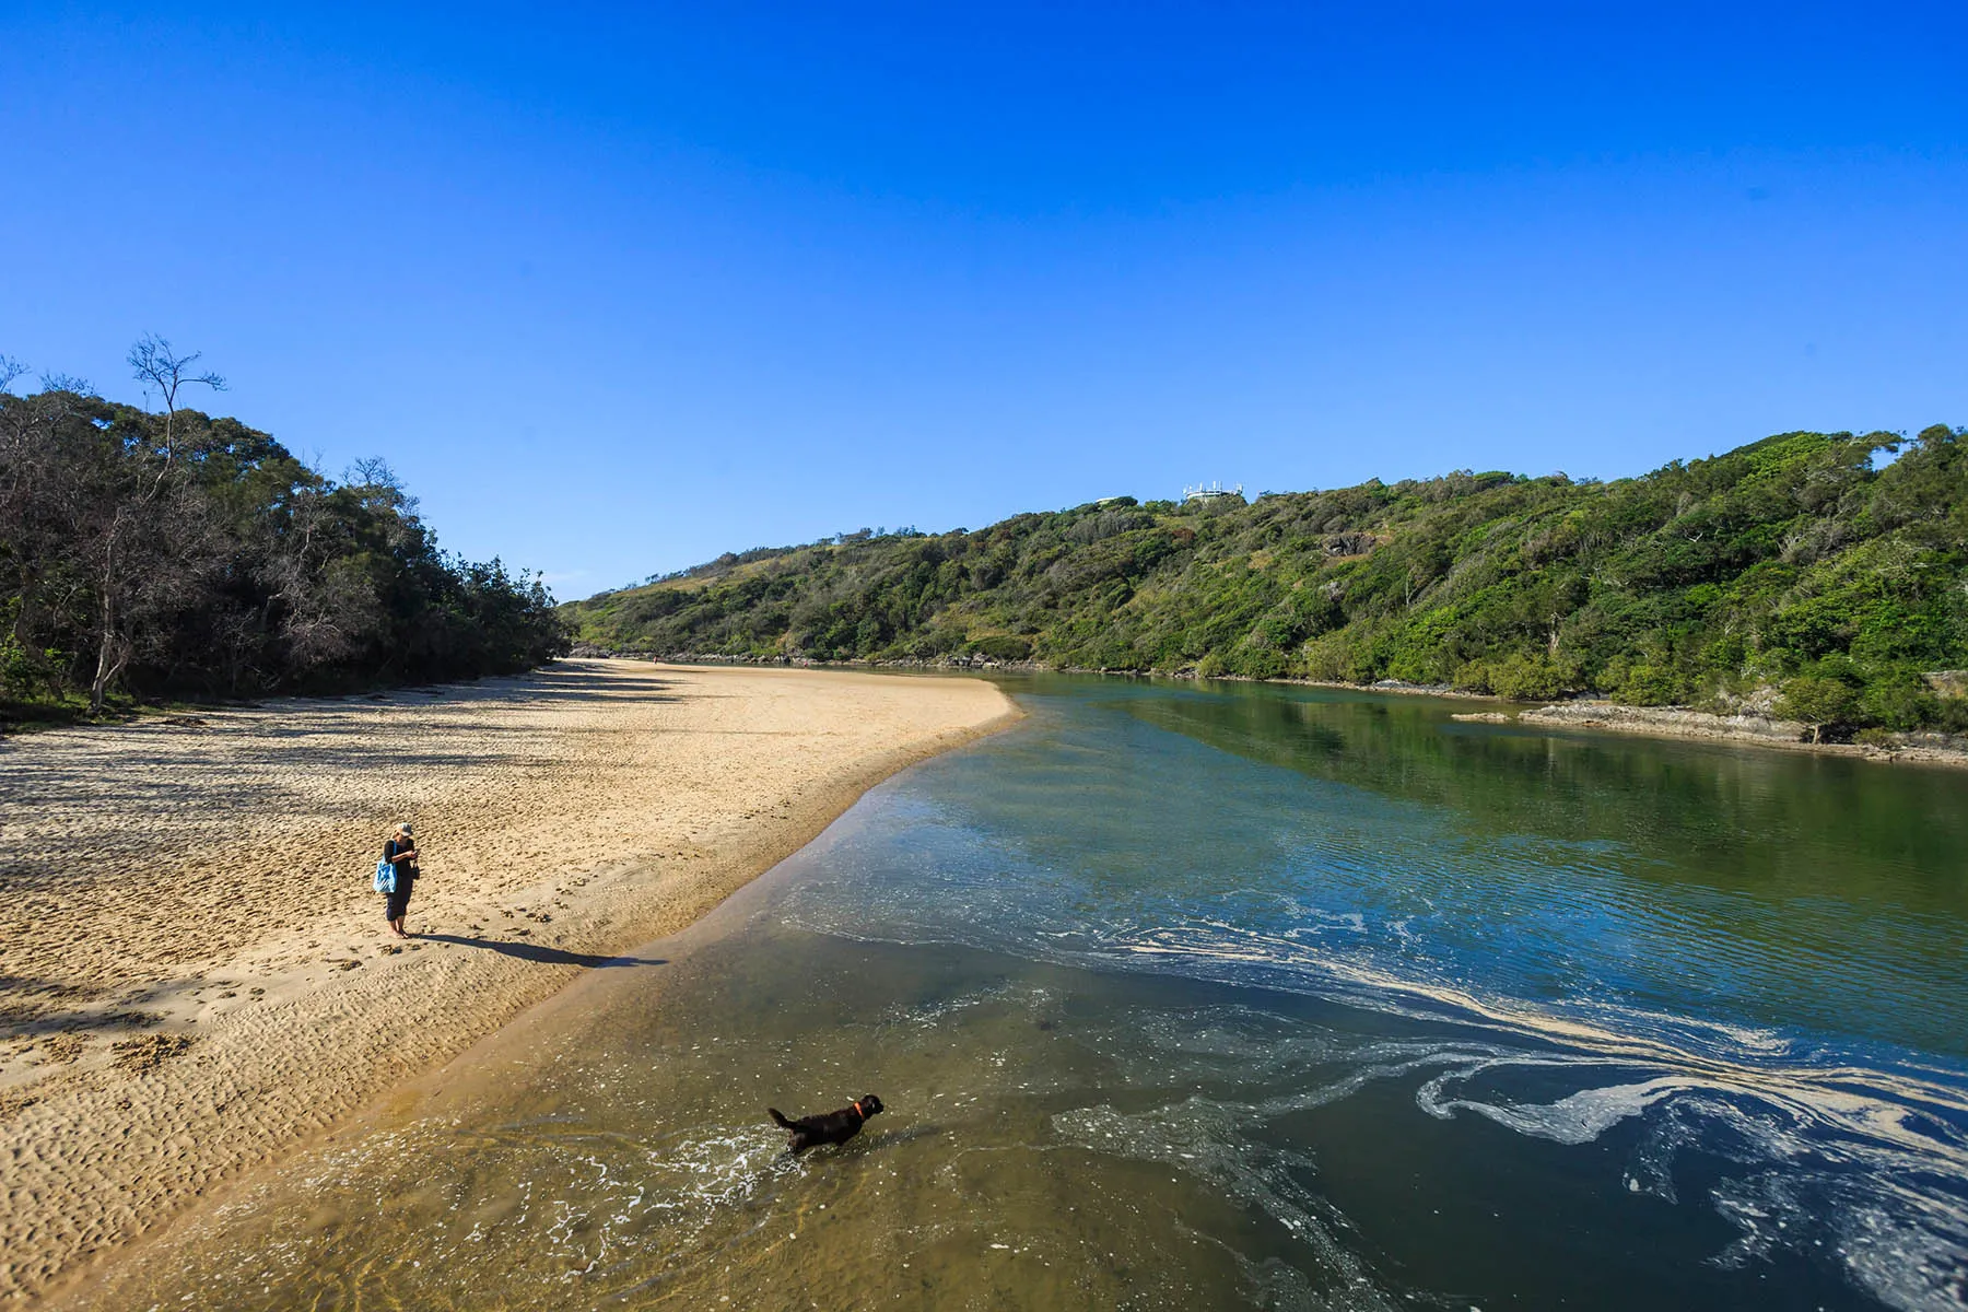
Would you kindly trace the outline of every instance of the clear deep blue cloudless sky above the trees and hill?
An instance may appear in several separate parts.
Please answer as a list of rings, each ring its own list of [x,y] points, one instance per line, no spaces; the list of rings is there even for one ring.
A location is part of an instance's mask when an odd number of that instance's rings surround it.
[[[584,596],[1968,423],[1968,6],[0,4],[0,352]],[[401,6],[409,8],[409,6]]]

